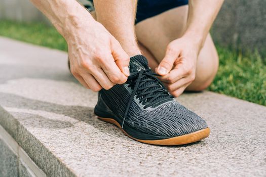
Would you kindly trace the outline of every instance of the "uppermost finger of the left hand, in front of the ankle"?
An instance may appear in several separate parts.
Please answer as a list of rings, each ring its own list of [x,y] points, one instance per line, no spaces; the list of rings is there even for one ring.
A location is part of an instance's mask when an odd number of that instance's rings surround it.
[[[121,72],[125,74],[125,76],[129,76],[129,56],[124,51],[124,49],[121,47],[119,41],[117,39],[111,40],[111,51],[112,51],[112,57],[115,59],[115,62]]]

